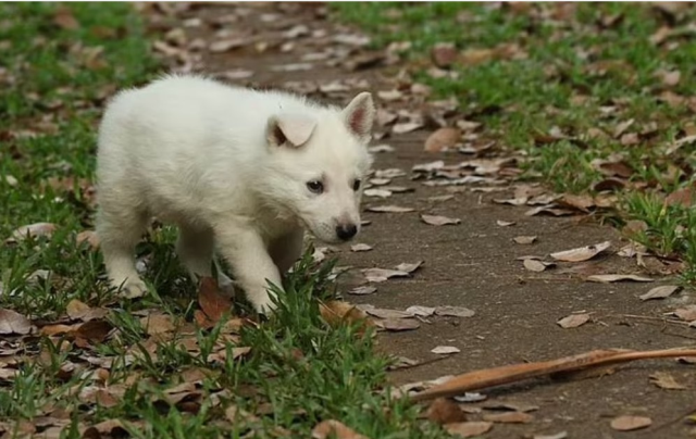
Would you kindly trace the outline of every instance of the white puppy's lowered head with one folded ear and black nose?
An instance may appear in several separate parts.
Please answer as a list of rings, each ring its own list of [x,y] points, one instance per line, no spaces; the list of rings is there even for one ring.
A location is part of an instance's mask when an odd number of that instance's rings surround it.
[[[266,195],[319,239],[341,242],[360,230],[360,198],[372,164],[366,143],[375,117],[372,96],[344,110],[278,114],[269,120]]]

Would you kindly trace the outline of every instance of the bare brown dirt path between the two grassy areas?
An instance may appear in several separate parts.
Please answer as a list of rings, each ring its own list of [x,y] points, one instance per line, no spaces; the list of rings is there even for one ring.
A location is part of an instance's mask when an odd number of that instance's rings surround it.
[[[376,65],[351,71],[345,64],[353,55],[336,58],[339,55],[334,54],[330,61],[334,60],[335,66],[327,66],[327,62],[322,61],[312,62],[309,70],[275,71],[276,66],[303,63],[302,55],[331,49],[333,37],[355,35],[357,30],[331,22],[320,7],[247,4],[241,13],[239,8],[206,5],[186,12],[189,18],[201,17],[204,24],[224,23],[223,18],[229,14],[243,16],[234,23],[235,35],[239,33],[256,41],[223,52],[202,51],[202,58],[194,62],[194,70],[213,74],[248,70],[252,72],[248,78],[229,79],[237,73],[227,75],[227,78],[232,83],[260,87],[287,88],[293,81],[327,84],[365,78],[369,89],[376,93],[391,88],[389,77],[402,66]],[[219,26],[225,28],[226,25]],[[293,28],[302,36],[293,38],[289,34],[284,35]],[[220,29],[214,26],[189,26],[185,29],[190,39],[201,38],[206,45],[220,39],[220,35],[214,34]],[[259,46],[263,43],[266,47]],[[283,43],[293,45],[291,50],[289,46],[282,48]],[[360,54],[357,52],[355,57]],[[358,90],[350,89],[339,98],[314,95],[345,104]],[[391,103],[377,99],[377,105],[385,108]],[[456,118],[453,115],[448,120]],[[382,333],[381,346],[388,352],[426,362],[391,372],[394,382],[434,379],[476,368],[549,360],[594,349],[651,350],[693,346],[694,334],[688,328],[663,324],[659,318],[626,317],[660,317],[687,302],[689,299],[684,294],[664,301],[644,302],[638,296],[656,284],[595,284],[583,280],[584,275],[595,273],[638,273],[635,260],[616,255],[616,250],[626,243],[617,230],[577,216],[526,216],[524,212],[529,208],[492,202],[494,198],[511,196],[511,188],[490,193],[462,189],[447,201],[428,200],[430,197],[452,192],[445,187],[431,188],[411,180],[411,167],[434,160],[458,163],[470,158],[457,153],[424,152],[424,139],[432,130],[426,127],[374,142],[395,148],[394,152],[376,154],[374,168],[403,170],[407,175],[395,178],[391,184],[407,186],[414,191],[395,193],[386,200],[365,198],[365,208],[398,204],[415,211],[365,212],[363,220],[371,221],[371,224],[364,227],[358,242],[369,243],[374,249],[351,252],[346,246],[338,253],[339,265],[356,268],[391,268],[402,262],[424,261],[411,278],[376,284],[377,292],[374,294],[347,294],[346,299],[353,303],[397,310],[410,305],[457,305],[475,312],[470,318],[427,317],[417,330]],[[431,226],[420,221],[421,213],[457,217],[461,223]],[[515,224],[502,227],[497,221]],[[523,235],[537,236],[537,241],[531,246],[512,241],[513,237]],[[515,260],[527,254],[543,256],[605,240],[610,240],[614,250],[608,255],[580,264],[559,264],[559,267],[543,273],[525,271],[522,262]],[[355,276],[343,281],[345,290],[359,279],[359,271],[353,273]],[[557,325],[559,318],[579,311],[592,313],[592,321],[572,329]],[[453,346],[461,352],[427,363],[438,356],[431,353],[437,346]],[[671,374],[687,390],[664,390],[650,384],[649,376],[658,372]],[[487,400],[464,405],[472,411],[499,402],[538,406],[531,413],[534,416],[531,423],[496,424],[485,435],[486,438],[533,437],[561,431],[567,431],[569,438],[686,438],[696,436],[694,427],[681,421],[689,411],[696,410],[695,387],[694,365],[663,360],[633,363],[620,367],[614,374],[583,380],[536,380],[499,387],[482,392]],[[624,414],[648,416],[652,426],[638,431],[613,430],[610,421]]]

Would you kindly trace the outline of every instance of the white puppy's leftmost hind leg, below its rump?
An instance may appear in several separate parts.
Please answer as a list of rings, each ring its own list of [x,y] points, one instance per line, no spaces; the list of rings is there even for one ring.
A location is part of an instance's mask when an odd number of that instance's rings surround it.
[[[140,297],[147,286],[135,269],[135,246],[147,228],[145,212],[103,205],[97,215],[97,235],[111,285],[128,298]]]

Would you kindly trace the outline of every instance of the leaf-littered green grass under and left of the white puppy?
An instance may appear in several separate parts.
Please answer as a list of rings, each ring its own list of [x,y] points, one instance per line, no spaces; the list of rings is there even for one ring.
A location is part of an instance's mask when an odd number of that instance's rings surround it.
[[[101,255],[76,242],[92,227],[96,127],[104,98],[148,80],[158,64],[130,5],[71,4],[76,28],[54,23],[59,8],[0,4],[0,65],[7,67],[0,80],[10,85],[0,86],[0,237],[22,225],[57,225],[51,237],[2,243],[0,308],[51,323],[79,300],[109,306],[97,325],[115,333],[87,343],[74,335],[3,336],[0,349],[20,349],[0,356],[1,376],[15,373],[0,378],[8,436],[36,424],[37,432],[63,428],[61,438],[79,438],[89,426],[120,419],[135,438],[251,431],[308,438],[319,422],[338,419],[372,438],[445,437],[417,418],[417,406],[389,397],[388,361],[375,353],[371,331],[333,327],[320,316],[316,299],[334,293],[331,265],[315,267],[306,258],[287,279],[275,317],[240,334],[225,333],[222,323],[212,329],[191,323],[196,286],[174,256],[169,227],[153,229],[137,250],[153,284],[149,296],[120,301],[104,286]],[[85,63],[97,52],[102,61]],[[141,322],[152,312],[178,321],[158,342]],[[246,347],[248,353],[233,358],[235,348]],[[191,374],[200,378],[195,391],[167,402],[166,390]],[[97,401],[96,389],[111,400]]]

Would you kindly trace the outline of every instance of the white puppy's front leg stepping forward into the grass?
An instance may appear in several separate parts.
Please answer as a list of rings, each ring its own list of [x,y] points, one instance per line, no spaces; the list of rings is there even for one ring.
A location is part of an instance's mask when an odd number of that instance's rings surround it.
[[[257,312],[273,311],[275,305],[268,286],[271,281],[282,287],[281,273],[257,230],[248,225],[219,226],[215,227],[215,240]]]

